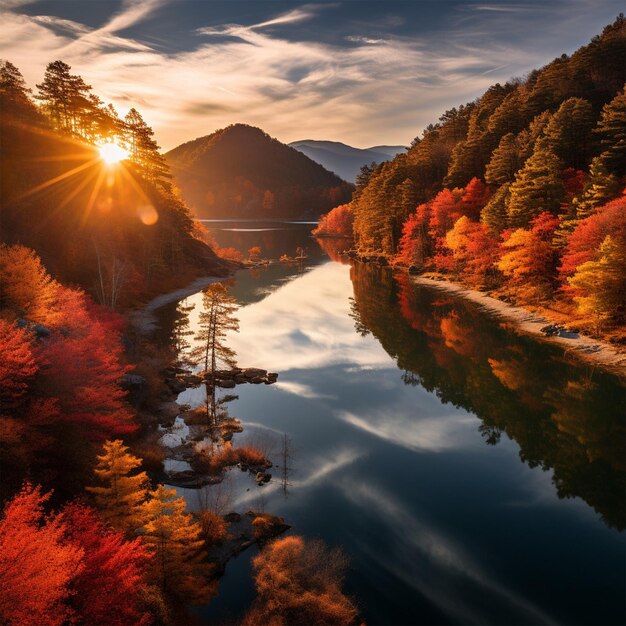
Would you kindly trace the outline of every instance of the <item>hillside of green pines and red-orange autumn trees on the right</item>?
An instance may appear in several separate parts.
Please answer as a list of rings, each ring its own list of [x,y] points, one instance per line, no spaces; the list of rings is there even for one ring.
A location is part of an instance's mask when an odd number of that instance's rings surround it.
[[[597,330],[626,309],[626,20],[571,56],[446,111],[407,154],[364,168],[360,255],[522,302],[559,299]]]

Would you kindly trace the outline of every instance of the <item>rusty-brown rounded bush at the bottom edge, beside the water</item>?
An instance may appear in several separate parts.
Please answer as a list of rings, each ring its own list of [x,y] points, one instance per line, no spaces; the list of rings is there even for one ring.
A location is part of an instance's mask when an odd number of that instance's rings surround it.
[[[340,550],[291,536],[265,546],[252,563],[257,597],[244,626],[341,626],[356,619],[356,606],[341,590],[347,561]]]

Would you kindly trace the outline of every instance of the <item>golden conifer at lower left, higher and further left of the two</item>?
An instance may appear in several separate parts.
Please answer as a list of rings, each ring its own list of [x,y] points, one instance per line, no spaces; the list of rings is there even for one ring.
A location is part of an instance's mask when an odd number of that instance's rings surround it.
[[[121,440],[107,441],[94,470],[104,486],[87,487],[103,519],[120,530],[133,532],[141,527],[141,505],[149,480],[145,472],[130,475],[140,465],[141,459],[130,454]]]

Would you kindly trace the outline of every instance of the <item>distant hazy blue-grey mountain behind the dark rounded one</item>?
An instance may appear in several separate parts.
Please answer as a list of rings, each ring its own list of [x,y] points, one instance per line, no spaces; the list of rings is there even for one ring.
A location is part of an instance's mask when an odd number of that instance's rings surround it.
[[[293,141],[289,145],[351,183],[355,182],[363,165],[369,165],[372,161],[375,163],[389,161],[399,152],[406,150],[404,146],[353,148],[339,141],[316,141],[314,139]]]

